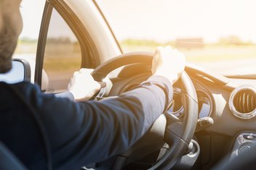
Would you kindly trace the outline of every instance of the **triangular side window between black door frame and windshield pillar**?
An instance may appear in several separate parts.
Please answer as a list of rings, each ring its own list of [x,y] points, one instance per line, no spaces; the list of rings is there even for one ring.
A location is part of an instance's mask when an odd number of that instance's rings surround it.
[[[81,48],[71,28],[53,9],[44,52],[42,87],[47,92],[65,91],[73,72],[81,67]]]

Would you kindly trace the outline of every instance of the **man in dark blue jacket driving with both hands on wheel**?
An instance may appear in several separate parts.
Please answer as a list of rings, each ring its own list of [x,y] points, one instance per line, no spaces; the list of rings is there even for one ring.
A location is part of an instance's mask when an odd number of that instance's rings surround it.
[[[20,0],[0,0],[1,73],[12,67],[22,30],[19,7]],[[127,150],[164,112],[185,59],[170,47],[159,47],[152,65],[153,76],[147,81],[102,102],[74,102],[41,93],[28,82],[0,82],[1,142],[28,169],[79,169]],[[100,89],[89,72],[81,69],[71,79],[68,93],[76,101]]]

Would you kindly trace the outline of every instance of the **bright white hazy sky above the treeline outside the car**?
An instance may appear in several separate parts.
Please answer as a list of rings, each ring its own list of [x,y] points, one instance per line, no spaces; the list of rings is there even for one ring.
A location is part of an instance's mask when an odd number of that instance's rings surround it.
[[[37,38],[45,0],[23,0],[21,37]],[[255,0],[97,0],[119,40],[215,42],[236,35],[256,42]]]

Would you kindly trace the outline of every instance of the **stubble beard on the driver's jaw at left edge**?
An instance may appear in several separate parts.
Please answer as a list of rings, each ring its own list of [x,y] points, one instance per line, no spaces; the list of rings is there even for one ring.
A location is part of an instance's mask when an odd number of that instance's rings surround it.
[[[3,27],[0,30],[0,73],[12,69],[12,54],[17,46],[17,34],[10,24],[9,18],[3,18]]]

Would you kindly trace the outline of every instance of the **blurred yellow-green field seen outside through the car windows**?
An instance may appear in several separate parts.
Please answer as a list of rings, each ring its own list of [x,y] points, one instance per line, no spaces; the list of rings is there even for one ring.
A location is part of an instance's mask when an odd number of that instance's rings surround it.
[[[123,41],[121,47],[124,52],[155,51],[157,46],[172,45],[172,43],[155,43],[151,41]],[[70,72],[79,69],[81,65],[80,50],[75,43],[63,45],[48,45],[46,49],[45,67],[47,72]],[[256,45],[220,46],[205,45],[203,48],[178,48],[185,54],[186,60],[193,63],[207,63],[212,61],[234,61],[242,59],[256,59]],[[17,54],[36,53],[35,42],[20,42]]]

